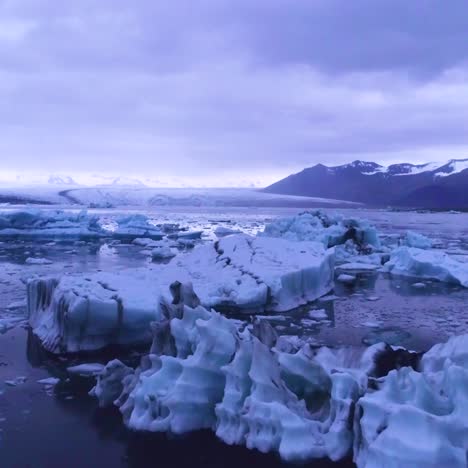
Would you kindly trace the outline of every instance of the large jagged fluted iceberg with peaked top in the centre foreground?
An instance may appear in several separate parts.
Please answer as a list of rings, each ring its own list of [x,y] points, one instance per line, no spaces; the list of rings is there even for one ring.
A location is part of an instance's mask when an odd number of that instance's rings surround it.
[[[378,376],[379,356],[393,353],[384,345],[281,352],[267,322],[250,331],[188,303],[166,304],[153,332],[137,369],[114,360],[97,376],[91,394],[101,406],[117,406],[133,430],[211,429],[228,444],[299,462],[349,453],[354,406]]]

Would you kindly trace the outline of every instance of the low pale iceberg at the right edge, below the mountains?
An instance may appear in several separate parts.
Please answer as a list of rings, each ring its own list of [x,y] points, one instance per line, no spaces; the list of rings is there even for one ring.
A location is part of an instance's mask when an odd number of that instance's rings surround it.
[[[384,269],[393,275],[435,279],[468,287],[468,263],[454,260],[441,250],[399,247]]]

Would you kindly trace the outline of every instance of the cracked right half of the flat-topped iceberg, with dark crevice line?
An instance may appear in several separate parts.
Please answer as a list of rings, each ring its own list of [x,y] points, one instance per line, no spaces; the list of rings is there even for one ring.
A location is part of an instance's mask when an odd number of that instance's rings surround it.
[[[333,250],[315,242],[228,236],[176,257],[206,307],[287,311],[333,287]]]

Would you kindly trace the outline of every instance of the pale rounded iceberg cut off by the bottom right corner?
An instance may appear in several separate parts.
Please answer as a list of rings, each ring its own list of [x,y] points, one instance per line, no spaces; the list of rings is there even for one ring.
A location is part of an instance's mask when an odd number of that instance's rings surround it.
[[[394,370],[355,413],[358,466],[466,467],[468,336],[436,345],[421,370]]]

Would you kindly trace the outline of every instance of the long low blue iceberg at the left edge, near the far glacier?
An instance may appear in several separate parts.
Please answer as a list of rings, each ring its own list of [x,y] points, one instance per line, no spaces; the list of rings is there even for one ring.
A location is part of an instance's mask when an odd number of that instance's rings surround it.
[[[0,237],[8,238],[79,238],[105,236],[99,217],[86,211],[15,210],[0,213]]]

